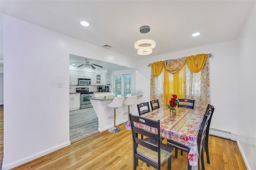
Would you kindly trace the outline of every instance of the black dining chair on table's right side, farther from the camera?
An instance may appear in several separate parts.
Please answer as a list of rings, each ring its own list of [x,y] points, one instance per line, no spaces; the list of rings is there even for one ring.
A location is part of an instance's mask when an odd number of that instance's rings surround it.
[[[208,104],[208,106],[206,107],[206,111],[205,111],[205,114],[207,115],[208,112],[211,111],[212,114],[210,116],[210,119],[208,121],[208,125],[206,127],[206,134],[205,134],[205,141],[204,141],[204,150],[206,152],[206,160],[207,160],[207,163],[210,164],[210,157],[209,157],[209,131],[210,131],[210,123],[211,123],[211,120],[212,120],[212,115],[213,115],[213,112],[214,112],[214,106]]]

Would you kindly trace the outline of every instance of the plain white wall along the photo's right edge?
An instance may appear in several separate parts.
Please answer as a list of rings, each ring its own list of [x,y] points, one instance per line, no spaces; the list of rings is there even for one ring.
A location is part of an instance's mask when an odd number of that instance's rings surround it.
[[[256,3],[238,37],[238,145],[248,170],[256,169]],[[243,101],[246,100],[246,101]],[[243,107],[247,106],[247,107]]]

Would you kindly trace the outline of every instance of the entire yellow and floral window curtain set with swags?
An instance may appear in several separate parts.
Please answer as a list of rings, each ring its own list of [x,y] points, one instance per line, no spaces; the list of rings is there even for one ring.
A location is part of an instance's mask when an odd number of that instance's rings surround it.
[[[210,103],[207,54],[155,62],[151,69],[150,100],[158,99],[160,106],[168,104],[172,94],[178,98],[194,99],[198,109],[205,109]]]

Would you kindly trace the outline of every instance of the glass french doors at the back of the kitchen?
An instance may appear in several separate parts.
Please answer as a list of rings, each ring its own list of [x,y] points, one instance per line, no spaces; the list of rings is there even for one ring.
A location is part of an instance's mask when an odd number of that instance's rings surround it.
[[[116,96],[120,96],[123,94],[131,94],[131,74],[115,75],[114,80],[114,93]]]

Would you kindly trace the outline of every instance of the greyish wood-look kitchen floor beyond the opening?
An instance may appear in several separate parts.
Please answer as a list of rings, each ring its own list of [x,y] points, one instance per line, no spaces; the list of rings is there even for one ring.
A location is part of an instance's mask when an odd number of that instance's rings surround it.
[[[69,139],[75,141],[98,131],[98,117],[93,109],[69,111]]]

